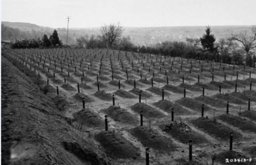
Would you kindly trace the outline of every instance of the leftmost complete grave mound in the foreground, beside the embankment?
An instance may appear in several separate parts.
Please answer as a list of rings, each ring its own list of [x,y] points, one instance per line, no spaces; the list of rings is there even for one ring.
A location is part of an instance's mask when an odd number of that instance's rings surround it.
[[[140,156],[139,149],[117,132],[101,132],[95,138],[112,158],[136,159]]]

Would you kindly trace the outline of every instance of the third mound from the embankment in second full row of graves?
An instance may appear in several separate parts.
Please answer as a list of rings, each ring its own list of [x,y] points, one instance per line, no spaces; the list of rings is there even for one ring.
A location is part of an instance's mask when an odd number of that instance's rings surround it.
[[[160,118],[165,116],[163,113],[155,110],[153,107],[145,103],[136,103],[133,106],[131,106],[131,109],[137,112],[138,114],[140,114],[141,111],[143,111],[143,116],[146,116],[146,117]]]

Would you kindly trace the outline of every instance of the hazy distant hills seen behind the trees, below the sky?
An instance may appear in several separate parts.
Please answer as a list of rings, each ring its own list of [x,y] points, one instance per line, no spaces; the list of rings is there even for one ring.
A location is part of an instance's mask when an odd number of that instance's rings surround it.
[[[43,37],[43,34],[48,36],[53,33],[54,28],[38,26],[36,24],[24,23],[24,22],[2,22],[3,25],[19,29],[20,33],[26,33],[28,37],[24,35],[11,34],[2,30],[2,40],[20,39],[20,38],[34,38]],[[221,37],[226,37],[231,32],[238,33],[244,30],[250,30],[251,26],[211,26],[212,33],[218,40]],[[185,41],[187,37],[201,37],[205,32],[205,26],[173,26],[173,27],[124,27],[123,36],[130,36],[131,41],[135,45],[152,45],[163,41]],[[66,43],[66,28],[56,28],[59,37],[62,42]],[[68,44],[76,44],[75,39],[88,34],[89,36],[99,35],[100,28],[70,28],[68,29]]]

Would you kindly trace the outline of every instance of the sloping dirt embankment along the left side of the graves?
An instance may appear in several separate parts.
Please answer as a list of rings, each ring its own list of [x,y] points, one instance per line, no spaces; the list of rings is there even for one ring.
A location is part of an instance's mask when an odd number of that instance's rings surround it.
[[[17,61],[16,66],[22,69]],[[2,164],[110,164],[88,133],[61,116],[33,77],[3,56],[1,68]]]

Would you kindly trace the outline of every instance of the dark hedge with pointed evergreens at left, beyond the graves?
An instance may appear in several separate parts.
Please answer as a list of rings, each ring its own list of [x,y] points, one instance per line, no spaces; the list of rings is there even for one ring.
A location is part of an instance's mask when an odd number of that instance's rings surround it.
[[[44,34],[42,39],[23,39],[15,40],[11,42],[11,48],[13,49],[25,49],[25,48],[53,48],[53,47],[62,47],[62,41],[59,39],[58,32],[55,29],[53,34],[49,36]]]

